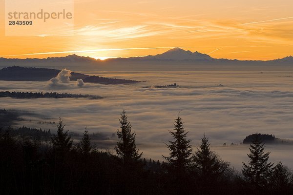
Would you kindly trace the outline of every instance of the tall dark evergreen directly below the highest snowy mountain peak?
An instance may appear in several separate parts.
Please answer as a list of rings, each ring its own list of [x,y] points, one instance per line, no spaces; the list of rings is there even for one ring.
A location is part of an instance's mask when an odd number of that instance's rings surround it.
[[[166,144],[167,148],[171,151],[170,156],[163,156],[167,160],[169,168],[174,169],[175,172],[186,172],[188,165],[191,163],[192,148],[190,146],[190,139],[187,139],[188,132],[184,129],[184,122],[178,115],[174,123],[174,131],[169,131],[174,141],[169,141]]]

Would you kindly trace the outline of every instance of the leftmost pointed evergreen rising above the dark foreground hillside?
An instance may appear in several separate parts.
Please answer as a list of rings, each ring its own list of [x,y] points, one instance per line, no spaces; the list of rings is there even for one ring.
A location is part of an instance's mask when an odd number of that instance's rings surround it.
[[[73,139],[71,139],[71,136],[68,135],[68,131],[64,132],[64,126],[63,121],[61,120],[61,117],[59,117],[59,122],[57,125],[58,131],[57,136],[54,135],[52,138],[52,143],[54,149],[60,152],[68,152],[72,149],[72,143]]]

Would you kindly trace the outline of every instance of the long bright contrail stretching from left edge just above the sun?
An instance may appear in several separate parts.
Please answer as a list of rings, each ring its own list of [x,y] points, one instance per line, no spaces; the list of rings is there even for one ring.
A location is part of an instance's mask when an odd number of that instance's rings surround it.
[[[33,55],[65,54],[65,53],[92,53],[92,52],[101,52],[101,51],[135,50],[135,49],[166,49],[166,48],[174,48],[174,47],[136,47],[136,48],[112,48],[112,49],[72,50],[72,51],[62,51],[62,52],[42,52],[42,53],[31,53],[31,54],[14,54],[14,55],[5,55],[5,56],[0,56],[0,57],[33,56]],[[180,48],[186,48],[186,47],[180,47]],[[188,48],[193,48],[193,47],[188,47]]]

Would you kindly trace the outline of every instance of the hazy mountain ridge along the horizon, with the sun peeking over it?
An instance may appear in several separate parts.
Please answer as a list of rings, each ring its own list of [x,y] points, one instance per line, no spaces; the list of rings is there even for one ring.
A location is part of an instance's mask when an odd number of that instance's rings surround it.
[[[208,54],[198,51],[191,52],[181,48],[173,48],[162,54],[148,55],[143,57],[94,59],[78,56],[76,54],[65,57],[48,57],[44,59],[6,59],[0,58],[0,68],[9,66],[46,67],[54,69],[67,68],[74,71],[99,70],[99,71],[182,71],[182,70],[243,70],[264,68],[272,70],[285,67],[293,69],[293,57],[288,56],[273,60],[238,60],[216,59]],[[283,68],[283,69],[285,69]]]

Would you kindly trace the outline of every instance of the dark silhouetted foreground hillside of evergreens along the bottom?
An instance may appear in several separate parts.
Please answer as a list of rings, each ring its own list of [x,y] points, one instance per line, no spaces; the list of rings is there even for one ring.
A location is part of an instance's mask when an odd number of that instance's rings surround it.
[[[64,130],[43,141],[0,130],[1,195],[290,195],[293,174],[255,135],[241,172],[210,150],[204,135],[193,151],[178,115],[165,161],[146,161],[136,147],[136,134],[123,111],[115,153],[91,144],[87,128],[75,143]],[[46,132],[45,132],[46,133]]]

